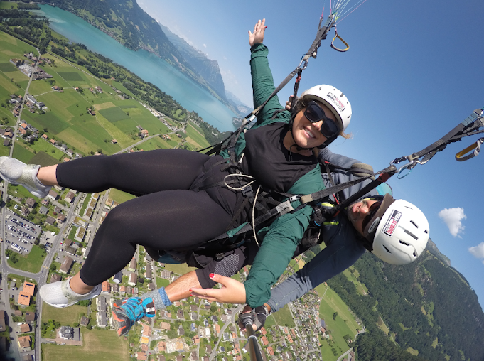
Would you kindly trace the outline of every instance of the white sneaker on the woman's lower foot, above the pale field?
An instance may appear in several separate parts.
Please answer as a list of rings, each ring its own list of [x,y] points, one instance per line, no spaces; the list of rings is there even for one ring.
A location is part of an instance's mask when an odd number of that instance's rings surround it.
[[[100,284],[95,286],[89,293],[83,295],[75,293],[70,288],[70,278],[65,279],[64,281],[54,282],[53,284],[44,284],[39,291],[39,294],[45,303],[57,308],[72,306],[78,301],[95,298],[96,296],[99,296],[100,293]]]

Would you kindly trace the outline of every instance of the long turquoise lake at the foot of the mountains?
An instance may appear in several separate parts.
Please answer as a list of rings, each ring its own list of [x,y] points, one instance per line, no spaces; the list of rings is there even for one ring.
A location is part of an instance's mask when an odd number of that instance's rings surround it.
[[[237,117],[222,102],[200,85],[179,72],[158,56],[146,50],[129,50],[87,21],[57,7],[41,5],[50,20],[50,28],[75,43],[82,43],[114,63],[123,65],[146,82],[171,95],[190,112],[197,112],[208,124],[220,131],[232,131],[232,117]]]

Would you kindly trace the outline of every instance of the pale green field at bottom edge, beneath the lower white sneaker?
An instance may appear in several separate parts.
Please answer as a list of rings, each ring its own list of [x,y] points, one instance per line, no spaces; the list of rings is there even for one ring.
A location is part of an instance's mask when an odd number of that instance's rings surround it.
[[[109,330],[81,328],[83,345],[42,344],[42,360],[48,361],[128,361],[128,342]]]

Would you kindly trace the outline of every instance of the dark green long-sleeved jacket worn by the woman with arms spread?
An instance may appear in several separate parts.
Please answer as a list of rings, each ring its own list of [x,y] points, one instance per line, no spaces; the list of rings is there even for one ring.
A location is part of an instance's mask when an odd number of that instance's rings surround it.
[[[259,107],[274,91],[274,80],[267,61],[267,47],[263,44],[255,44],[251,48],[251,72],[252,88],[254,92],[254,108]],[[276,119],[271,120],[272,114],[281,109],[279,98],[274,96],[257,115],[257,124],[254,127],[264,126],[272,122],[289,122],[290,114],[287,111],[280,112]],[[253,127],[253,128],[254,128]],[[244,151],[245,139],[241,134],[235,145],[238,156]],[[289,189],[291,194],[306,195],[323,190],[324,184],[321,178],[319,165],[299,178]],[[296,208],[299,202],[294,202]],[[271,286],[279,279],[286,266],[291,261],[297,244],[303,237],[304,231],[309,225],[309,217],[312,208],[306,206],[293,213],[287,213],[277,218],[269,227],[259,231],[259,239],[263,239],[262,245],[254,260],[247,281],[245,281],[246,302],[252,308],[261,306],[271,297]]]

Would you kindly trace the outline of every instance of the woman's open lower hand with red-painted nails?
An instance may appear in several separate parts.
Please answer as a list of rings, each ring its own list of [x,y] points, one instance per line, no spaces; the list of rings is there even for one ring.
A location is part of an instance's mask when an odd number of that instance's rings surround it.
[[[210,302],[245,303],[245,287],[239,281],[220,274],[210,274],[210,279],[222,284],[221,289],[190,289],[190,296]]]

